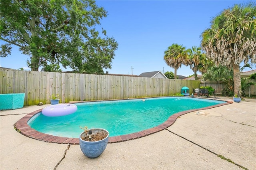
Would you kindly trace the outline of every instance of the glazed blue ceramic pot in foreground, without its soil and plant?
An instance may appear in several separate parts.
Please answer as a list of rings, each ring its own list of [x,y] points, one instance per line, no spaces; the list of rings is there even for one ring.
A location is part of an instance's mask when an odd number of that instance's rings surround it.
[[[96,158],[100,156],[103,153],[103,151],[106,149],[106,146],[108,144],[109,133],[107,130],[102,128],[92,128],[89,130],[92,130],[92,135],[101,131],[107,134],[107,136],[104,139],[93,141],[93,142],[82,140],[83,137],[88,136],[88,134],[86,134],[85,132],[82,132],[79,136],[79,144],[83,154],[88,158]]]

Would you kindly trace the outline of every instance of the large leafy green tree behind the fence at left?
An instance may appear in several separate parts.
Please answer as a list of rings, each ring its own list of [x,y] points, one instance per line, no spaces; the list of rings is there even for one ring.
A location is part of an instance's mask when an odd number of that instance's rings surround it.
[[[111,68],[118,43],[106,36],[100,20],[107,16],[94,0],[1,0],[0,56],[11,45],[29,55],[32,71],[64,68],[86,73],[103,73]]]

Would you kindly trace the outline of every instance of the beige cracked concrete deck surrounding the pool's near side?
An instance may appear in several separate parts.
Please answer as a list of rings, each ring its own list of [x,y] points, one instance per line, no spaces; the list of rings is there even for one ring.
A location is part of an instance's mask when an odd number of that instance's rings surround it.
[[[221,100],[232,101],[226,97]],[[256,99],[204,109],[199,113],[180,113],[171,126],[166,125],[163,130],[133,140],[126,137],[124,142],[113,140],[103,154],[94,159],[84,156],[79,145],[69,144],[72,140],[64,144],[54,143],[57,139],[44,142],[14,130],[20,119],[26,121],[44,107],[46,105],[0,111],[1,170],[256,170]],[[28,131],[26,127],[21,130]]]

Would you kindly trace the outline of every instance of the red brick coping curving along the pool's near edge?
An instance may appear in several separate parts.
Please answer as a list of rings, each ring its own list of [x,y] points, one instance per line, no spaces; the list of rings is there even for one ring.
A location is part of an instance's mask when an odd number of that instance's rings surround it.
[[[215,99],[210,99],[210,100],[215,100]],[[233,103],[232,101],[226,101],[226,103],[220,103],[217,105],[213,105],[213,106],[208,106],[208,107],[204,107],[204,108],[200,108],[200,109],[191,109],[191,110],[187,110],[187,111],[181,111],[178,113],[175,113],[174,115],[170,116],[167,121],[165,121],[164,123],[153,127],[153,128],[149,128],[146,130],[142,130],[140,132],[135,132],[135,133],[131,133],[131,134],[124,134],[124,135],[120,135],[120,136],[112,136],[108,138],[108,143],[116,143],[116,142],[124,142],[127,140],[132,140],[132,139],[137,139],[137,138],[141,138],[144,136],[148,136],[150,134],[159,132],[161,130],[164,130],[168,127],[170,127],[178,117],[180,117],[181,115],[185,115],[187,113],[190,112],[194,112],[194,111],[200,111],[200,110],[205,110],[205,109],[212,109],[214,107],[220,107],[223,105],[228,105]],[[58,143],[58,144],[79,144],[79,138],[68,138],[68,137],[59,137],[59,136],[53,136],[50,134],[45,134],[42,132],[38,132],[37,130],[31,128],[28,125],[28,121],[36,114],[39,114],[42,111],[42,109],[36,110],[32,113],[29,113],[28,115],[24,116],[23,118],[21,118],[17,123],[14,124],[14,128],[20,132],[21,134],[23,134],[24,136],[27,136],[29,138],[33,138],[36,140],[41,140],[44,142],[51,142],[51,143]]]

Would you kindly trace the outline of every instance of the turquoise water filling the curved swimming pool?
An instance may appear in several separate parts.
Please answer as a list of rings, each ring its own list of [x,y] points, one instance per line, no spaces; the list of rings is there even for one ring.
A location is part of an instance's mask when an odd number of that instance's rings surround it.
[[[37,114],[30,127],[46,134],[78,138],[80,127],[104,128],[110,136],[139,132],[164,123],[184,110],[208,107],[224,101],[189,97],[158,97],[120,101],[77,103],[78,110],[67,116],[46,117]]]

